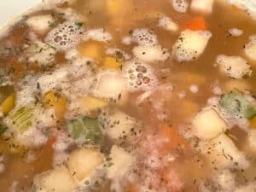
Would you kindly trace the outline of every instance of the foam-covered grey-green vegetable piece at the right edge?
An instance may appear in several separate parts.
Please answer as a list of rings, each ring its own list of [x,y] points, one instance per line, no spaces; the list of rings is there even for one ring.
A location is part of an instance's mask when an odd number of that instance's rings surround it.
[[[218,104],[232,117],[239,116],[252,119],[256,116],[255,104],[249,101],[247,96],[239,90],[232,90],[224,94],[220,97]]]

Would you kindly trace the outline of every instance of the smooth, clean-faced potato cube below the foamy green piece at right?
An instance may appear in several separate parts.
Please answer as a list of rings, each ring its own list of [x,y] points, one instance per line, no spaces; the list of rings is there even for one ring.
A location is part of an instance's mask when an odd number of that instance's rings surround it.
[[[193,125],[195,135],[204,140],[218,137],[219,134],[228,129],[224,119],[213,108],[198,113],[193,120]]]

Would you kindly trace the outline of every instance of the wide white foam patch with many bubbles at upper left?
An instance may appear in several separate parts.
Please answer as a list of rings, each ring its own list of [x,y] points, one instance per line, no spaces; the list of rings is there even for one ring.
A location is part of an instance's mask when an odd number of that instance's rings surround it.
[[[56,49],[67,50],[79,44],[83,34],[80,23],[67,21],[51,30],[44,40]]]

